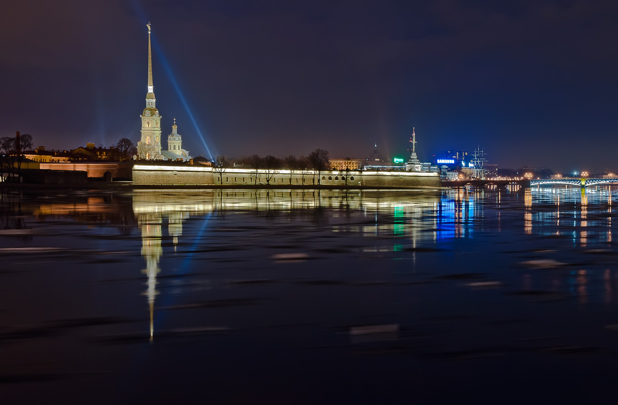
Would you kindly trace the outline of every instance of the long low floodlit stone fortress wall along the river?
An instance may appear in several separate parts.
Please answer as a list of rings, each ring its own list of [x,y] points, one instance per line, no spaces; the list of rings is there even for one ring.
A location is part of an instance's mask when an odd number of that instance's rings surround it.
[[[256,181],[257,177],[257,181]],[[322,171],[321,185],[346,185],[344,171]],[[290,171],[286,169],[234,169],[227,168],[219,175],[216,169],[196,166],[158,166],[135,164],[133,166],[135,185],[292,185],[311,186],[318,184],[318,173],[313,171]],[[350,171],[348,186],[361,187],[441,187],[438,173]]]

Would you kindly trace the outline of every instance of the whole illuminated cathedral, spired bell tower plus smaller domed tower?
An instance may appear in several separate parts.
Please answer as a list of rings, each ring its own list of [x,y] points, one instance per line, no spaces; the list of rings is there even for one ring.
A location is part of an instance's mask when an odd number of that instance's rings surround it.
[[[148,27],[148,93],[146,93],[146,108],[142,111],[142,138],[137,143],[137,158],[145,160],[182,160],[188,161],[192,156],[182,148],[182,135],[178,134],[176,118],[172,133],[167,135],[167,150],[161,144],[161,115],[156,109],[156,98],[153,86],[153,67],[150,52],[150,23]]]

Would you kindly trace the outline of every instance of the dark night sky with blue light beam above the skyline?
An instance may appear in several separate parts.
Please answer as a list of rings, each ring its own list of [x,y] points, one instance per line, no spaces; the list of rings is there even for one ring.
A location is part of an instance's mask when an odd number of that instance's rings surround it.
[[[480,145],[500,168],[618,171],[616,2],[2,8],[0,135],[48,149],[140,140],[150,21],[163,135],[176,117],[193,156],[364,157],[377,142],[407,158],[416,127],[421,161]]]

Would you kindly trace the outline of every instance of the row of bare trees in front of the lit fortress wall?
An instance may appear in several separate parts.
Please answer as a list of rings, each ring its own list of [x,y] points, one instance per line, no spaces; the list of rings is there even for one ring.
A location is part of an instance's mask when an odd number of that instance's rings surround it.
[[[292,170],[300,171],[303,176],[303,184],[305,176],[313,174],[313,184],[316,184],[316,171],[318,174],[318,182],[320,184],[320,175],[323,170],[328,169],[328,150],[316,149],[309,156],[296,157],[294,155],[286,156],[279,159],[273,155],[261,157],[259,155],[251,155],[240,158],[237,161],[245,168],[252,169],[251,181],[258,184],[261,176],[265,177],[266,184],[270,184],[273,177],[280,169],[290,170],[290,184],[292,184]],[[231,165],[226,156],[217,156],[214,160],[214,173],[219,176],[219,182],[223,182],[223,174],[226,173],[226,168]]]

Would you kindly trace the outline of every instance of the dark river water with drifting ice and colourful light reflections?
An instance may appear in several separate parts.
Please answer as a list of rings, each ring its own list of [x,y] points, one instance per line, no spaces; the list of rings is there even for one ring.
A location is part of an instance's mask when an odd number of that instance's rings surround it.
[[[0,191],[0,402],[611,399],[617,213],[607,188]]]

